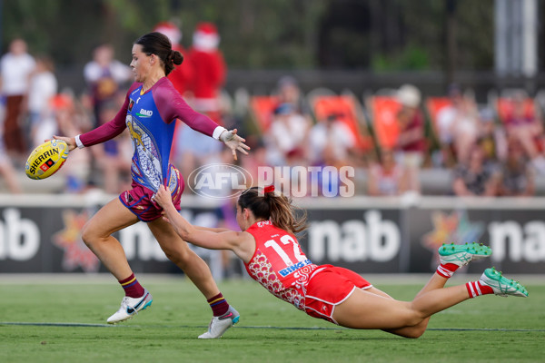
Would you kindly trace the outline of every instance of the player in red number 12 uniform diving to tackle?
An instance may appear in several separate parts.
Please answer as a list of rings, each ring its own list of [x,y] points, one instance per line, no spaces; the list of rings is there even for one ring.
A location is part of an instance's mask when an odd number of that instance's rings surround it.
[[[352,329],[382,329],[406,338],[420,337],[431,315],[480,295],[527,297],[528,291],[513,280],[487,269],[480,280],[444,288],[455,270],[489,257],[489,247],[477,243],[443,245],[441,265],[412,301],[392,299],[351,270],[318,266],[301,250],[295,233],[306,228],[285,196],[253,187],[244,191],[236,206],[242,231],[194,227],[176,211],[170,191],[163,186],[154,196],[183,240],[207,249],[233,250],[248,274],[276,297],[314,318]]]

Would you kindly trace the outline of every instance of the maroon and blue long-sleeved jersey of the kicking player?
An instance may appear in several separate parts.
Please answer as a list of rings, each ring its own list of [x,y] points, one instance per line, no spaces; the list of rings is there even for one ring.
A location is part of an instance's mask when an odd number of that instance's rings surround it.
[[[193,111],[166,77],[145,93],[142,87],[143,83],[133,83],[114,120],[80,135],[79,141],[91,146],[110,140],[127,128],[133,141],[133,181],[158,191],[161,184],[168,185],[174,121],[180,119],[193,130],[216,138],[219,135],[214,131],[219,133],[216,128],[220,126]]]

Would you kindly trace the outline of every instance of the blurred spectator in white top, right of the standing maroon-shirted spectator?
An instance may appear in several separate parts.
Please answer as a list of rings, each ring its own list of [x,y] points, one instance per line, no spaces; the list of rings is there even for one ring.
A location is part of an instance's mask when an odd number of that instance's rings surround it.
[[[445,164],[467,162],[471,145],[481,134],[477,105],[461,93],[458,85],[449,88],[451,105],[437,114],[437,127]],[[453,154],[453,156],[451,156]]]

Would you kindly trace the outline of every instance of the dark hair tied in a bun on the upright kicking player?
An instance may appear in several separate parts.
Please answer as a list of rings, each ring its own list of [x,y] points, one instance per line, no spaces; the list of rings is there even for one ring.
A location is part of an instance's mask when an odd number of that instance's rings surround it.
[[[173,50],[170,40],[162,33],[144,34],[134,44],[142,45],[142,52],[147,55],[157,55],[164,65],[164,74],[166,75],[173,72],[174,64],[182,64],[183,62],[183,55]]]

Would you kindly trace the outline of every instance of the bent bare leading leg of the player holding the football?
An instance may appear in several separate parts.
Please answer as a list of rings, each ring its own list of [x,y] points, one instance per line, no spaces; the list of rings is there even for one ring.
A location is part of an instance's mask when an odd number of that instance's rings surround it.
[[[129,266],[122,245],[112,236],[112,233],[123,230],[137,221],[133,212],[116,198],[96,212],[93,218],[87,221],[82,231],[85,244],[117,280],[127,278],[133,270]]]

